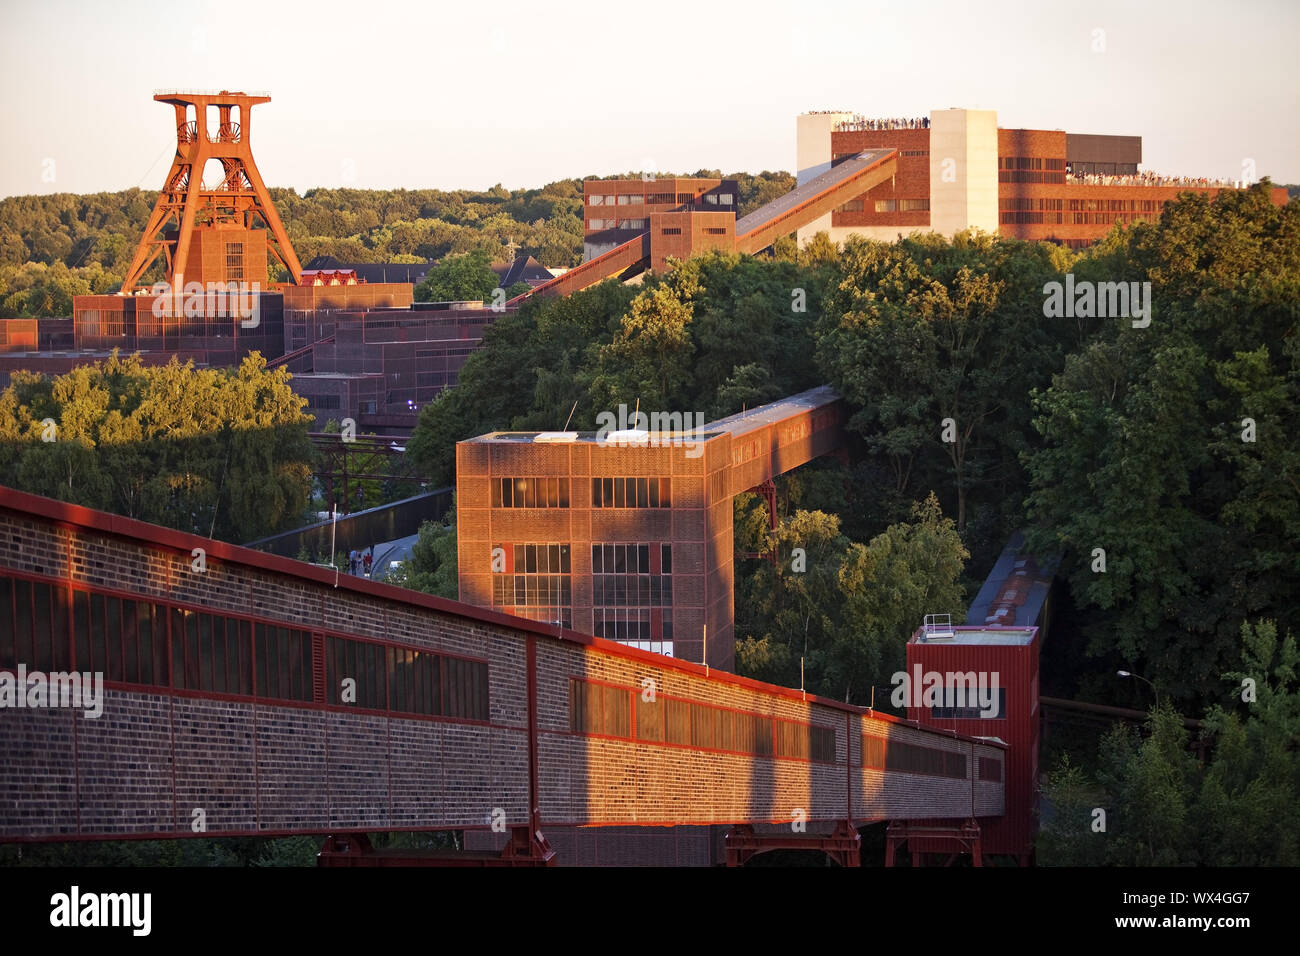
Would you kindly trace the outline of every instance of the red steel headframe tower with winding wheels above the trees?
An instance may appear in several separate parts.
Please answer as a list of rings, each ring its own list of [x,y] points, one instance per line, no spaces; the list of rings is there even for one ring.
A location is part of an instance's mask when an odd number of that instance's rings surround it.
[[[252,108],[270,96],[242,92],[160,92],[176,109],[176,157],[150,224],[122,281],[130,295],[161,252],[173,289],[187,282],[263,281],[269,250],[296,284],[298,256],[252,159]],[[203,182],[209,160],[221,164],[214,182]],[[255,228],[260,217],[270,230]]]

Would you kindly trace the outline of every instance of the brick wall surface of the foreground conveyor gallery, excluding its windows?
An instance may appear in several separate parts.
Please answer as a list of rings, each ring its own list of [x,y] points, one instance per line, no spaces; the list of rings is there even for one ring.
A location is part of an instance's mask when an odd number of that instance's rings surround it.
[[[192,546],[208,548],[204,574],[190,570]],[[335,588],[318,568],[8,490],[0,493],[0,571],[489,662],[486,723],[130,684],[108,687],[98,719],[77,710],[0,710],[0,839],[192,835],[200,808],[208,834],[486,827],[497,809],[508,823],[524,823],[529,640],[537,645],[543,826],[783,823],[797,809],[809,821],[833,821],[848,812],[850,786],[859,822],[968,816],[968,778],[864,770],[861,735],[1002,757],[992,744],[805,701],[716,670],[706,678],[694,665],[529,622],[514,626],[361,579],[343,576]],[[833,730],[836,762],[571,730],[572,679],[640,692],[645,678],[664,697]],[[974,801],[976,816],[1000,813],[1001,784],[976,782]]]

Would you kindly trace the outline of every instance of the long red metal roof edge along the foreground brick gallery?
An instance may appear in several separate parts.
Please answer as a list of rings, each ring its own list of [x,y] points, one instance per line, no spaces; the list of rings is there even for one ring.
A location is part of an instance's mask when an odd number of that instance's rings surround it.
[[[381,581],[372,581],[364,578],[358,578],[356,575],[338,572],[337,575],[326,571],[322,567],[315,564],[308,564],[302,561],[294,561],[291,558],[282,558],[278,554],[266,554],[264,551],[257,551],[251,548],[243,548],[240,545],[228,544],[225,541],[216,541],[213,538],[200,537],[199,535],[191,535],[183,531],[176,531],[173,528],[164,528],[157,524],[150,524],[148,522],[142,522],[135,518],[124,518],[121,515],[114,515],[108,511],[98,511],[95,509],[86,507],[83,505],[73,505],[66,501],[56,501],[53,498],[46,498],[39,494],[30,494],[27,492],[20,492],[8,485],[0,485],[0,511],[10,511],[18,515],[38,515],[40,518],[48,518],[52,522],[61,524],[70,524],[81,528],[92,528],[95,531],[104,532],[105,535],[113,535],[116,537],[125,537],[136,541],[143,541],[146,544],[161,545],[164,548],[173,548],[178,551],[188,554],[194,548],[203,548],[209,557],[220,558],[231,564],[244,564],[248,567],[256,567],[264,571],[272,571],[274,574],[282,574],[289,578],[299,578],[309,580],[315,584],[322,584],[332,588],[347,588],[359,594],[367,594],[370,597],[377,597],[387,601],[394,601],[396,604],[416,605],[422,606],[429,610],[439,611],[442,614],[458,615],[462,618],[469,618],[472,620],[478,620],[485,624],[498,624],[500,627],[514,628],[515,631],[524,631],[528,633],[534,633],[541,637],[550,637],[558,643],[568,644],[584,644],[586,646],[601,650],[602,653],[611,654],[614,657],[625,657],[634,661],[644,661],[646,663],[653,663],[656,667],[667,667],[668,670],[677,670],[694,676],[703,676],[708,680],[720,680],[725,684],[734,684],[737,687],[744,687],[750,691],[759,691],[762,693],[768,693],[776,697],[786,697],[792,700],[806,701],[809,704],[816,704],[819,706],[831,708],[833,710],[841,710],[850,714],[864,714],[875,719],[887,721],[890,723],[898,723],[909,727],[916,727],[927,732],[940,734],[942,736],[950,736],[957,740],[970,740],[979,744],[988,744],[991,747],[997,747],[996,743],[985,740],[983,737],[967,736],[965,734],[956,734],[944,731],[941,728],[927,727],[919,721],[907,721],[901,717],[894,717],[893,714],[885,714],[879,710],[871,710],[870,708],[859,708],[854,704],[845,704],[842,701],[829,700],[827,697],[819,697],[816,695],[805,695],[802,691],[796,691],[790,687],[780,687],[777,684],[768,684],[762,680],[754,680],[753,678],[745,678],[738,674],[731,674],[728,671],[714,672],[714,669],[706,667],[702,663],[694,663],[692,661],[682,661],[676,657],[664,657],[662,654],[654,654],[649,650],[641,650],[638,648],[630,648],[625,644],[619,644],[618,641],[606,640],[603,637],[594,637],[592,635],[585,635],[578,631],[571,631],[568,628],[556,627],[554,624],[546,624],[538,620],[529,620],[526,618],[516,618],[512,614],[502,614],[500,611],[494,611],[488,607],[478,607],[477,605],[462,604],[460,601],[451,601],[450,598],[437,597],[434,594],[425,594],[420,591],[411,591],[408,588],[398,588],[393,584],[384,584]],[[337,576],[337,583],[333,580]],[[1005,748],[1004,748],[1005,749]]]

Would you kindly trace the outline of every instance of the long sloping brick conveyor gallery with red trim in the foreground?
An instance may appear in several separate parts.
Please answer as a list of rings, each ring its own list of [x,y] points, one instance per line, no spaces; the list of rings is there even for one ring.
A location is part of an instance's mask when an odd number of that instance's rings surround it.
[[[20,669],[101,674],[101,713],[0,708],[4,842],[499,818],[566,862],[708,864],[710,829],[796,808],[810,834],[1006,812],[996,741],[0,489]]]

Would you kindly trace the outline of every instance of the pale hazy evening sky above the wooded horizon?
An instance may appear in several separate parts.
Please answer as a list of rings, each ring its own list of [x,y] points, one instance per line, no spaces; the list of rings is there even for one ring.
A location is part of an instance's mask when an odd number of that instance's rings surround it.
[[[1143,168],[1300,182],[1300,3],[0,0],[0,196],[159,189],[157,90],[268,91],[270,186],[794,169],[811,109],[996,109]],[[250,22],[256,35],[240,36]]]

